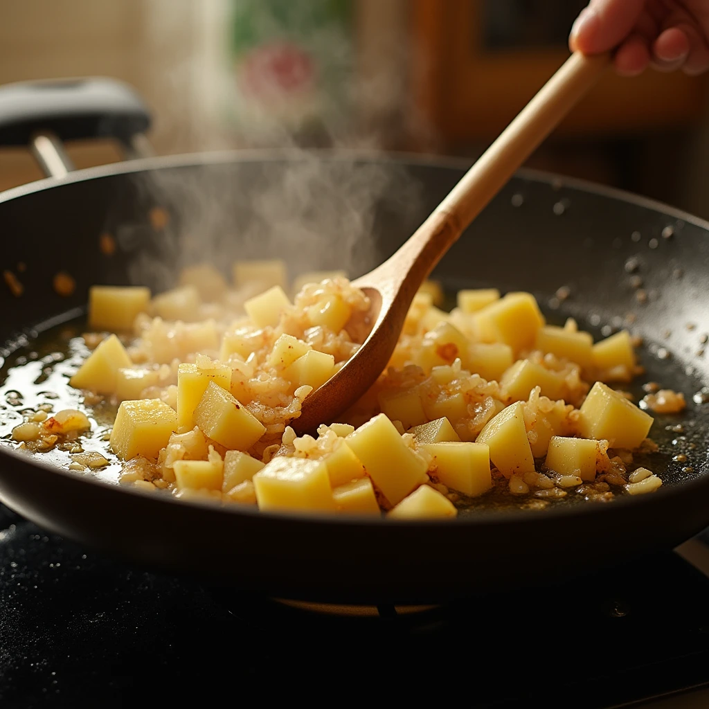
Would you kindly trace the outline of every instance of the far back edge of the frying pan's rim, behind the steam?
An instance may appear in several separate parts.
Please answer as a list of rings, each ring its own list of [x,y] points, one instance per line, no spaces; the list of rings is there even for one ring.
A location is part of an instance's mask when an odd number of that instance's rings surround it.
[[[412,166],[451,167],[456,169],[469,168],[475,162],[474,160],[467,160],[463,157],[437,155],[436,153],[396,150],[381,151],[359,148],[313,148],[311,150],[247,148],[243,150],[208,150],[203,152],[179,153],[177,155],[140,157],[134,160],[124,160],[123,162],[113,162],[106,165],[73,170],[64,177],[45,177],[35,180],[34,182],[27,182],[26,184],[0,191],[0,204],[45,189],[53,189],[74,182],[86,182],[102,177],[113,177],[119,174],[134,174],[147,172],[149,170],[170,169],[175,167],[199,167],[200,165],[238,162],[278,162],[279,160],[296,160],[298,157],[302,159],[306,155],[322,156],[330,160],[347,158],[348,160],[368,160],[369,162],[384,163],[398,162],[399,164],[409,164]],[[546,182],[549,185],[560,184],[561,187],[582,189],[591,194],[618,199],[632,203],[635,206],[662,212],[667,216],[681,219],[686,223],[691,223],[709,232],[709,220],[693,215],[683,209],[673,207],[657,199],[635,194],[624,189],[619,189],[618,187],[611,187],[593,182],[592,180],[568,177],[557,172],[548,172],[546,170],[533,169],[530,167],[520,168],[515,173],[515,177],[531,180],[533,182]]]

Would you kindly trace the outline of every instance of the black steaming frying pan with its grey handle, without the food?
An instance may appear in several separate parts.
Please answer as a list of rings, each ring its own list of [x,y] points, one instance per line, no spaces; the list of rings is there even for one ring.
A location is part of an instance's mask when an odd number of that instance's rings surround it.
[[[60,139],[111,135],[134,146],[148,123],[130,89],[104,80],[0,92],[0,143],[33,143],[57,172],[64,164]],[[218,266],[233,257],[280,256],[291,274],[342,267],[347,259],[356,277],[391,255],[467,167],[406,155],[220,152],[134,159],[6,191],[2,268],[24,263],[26,270],[21,296],[0,289],[4,354],[80,316],[91,284],[140,279],[168,286],[178,252],[214,257]],[[367,201],[362,185],[377,181],[380,189]],[[310,189],[304,202],[294,199],[303,185]],[[151,225],[154,206],[169,214],[167,228]],[[361,233],[351,240],[357,218]],[[111,256],[99,248],[106,231],[118,244]],[[52,288],[60,271],[76,280],[68,296]],[[644,303],[630,271],[644,281]],[[0,500],[48,530],[153,569],[308,601],[437,602],[671,549],[709,525],[709,415],[691,399],[709,375],[696,354],[709,329],[707,273],[708,223],[641,197],[528,171],[511,180],[435,272],[452,290],[531,291],[550,320],[574,316],[596,337],[632,320],[644,338],[645,380],[679,389],[690,402],[688,462],[671,460],[682,445],[669,440],[672,420],[654,423],[664,480],[657,493],[392,524],[175,501],[0,447]],[[563,303],[554,296],[560,286],[571,294]]]

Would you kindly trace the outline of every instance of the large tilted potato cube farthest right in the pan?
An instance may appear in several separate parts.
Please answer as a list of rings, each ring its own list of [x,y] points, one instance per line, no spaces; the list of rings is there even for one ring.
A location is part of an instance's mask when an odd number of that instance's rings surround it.
[[[593,384],[579,410],[581,435],[599,440],[605,438],[615,448],[637,448],[651,426],[651,415],[601,381]]]

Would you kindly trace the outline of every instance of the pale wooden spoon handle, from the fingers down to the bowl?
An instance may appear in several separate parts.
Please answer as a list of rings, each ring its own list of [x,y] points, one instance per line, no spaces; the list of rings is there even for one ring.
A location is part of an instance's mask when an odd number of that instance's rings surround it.
[[[413,298],[452,243],[596,83],[609,63],[609,53],[571,55],[406,244],[376,269],[378,280],[388,277],[392,292],[401,289],[406,291],[405,299]]]

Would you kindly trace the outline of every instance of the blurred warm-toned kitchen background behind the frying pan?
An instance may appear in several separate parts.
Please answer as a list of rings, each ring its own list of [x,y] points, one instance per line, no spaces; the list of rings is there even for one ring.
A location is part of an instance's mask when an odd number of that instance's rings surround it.
[[[284,145],[474,158],[567,56],[584,0],[0,0],[0,83],[108,75],[159,154]],[[79,167],[120,160],[69,146]],[[608,75],[530,166],[709,218],[707,77]],[[41,177],[0,151],[0,189]]]

